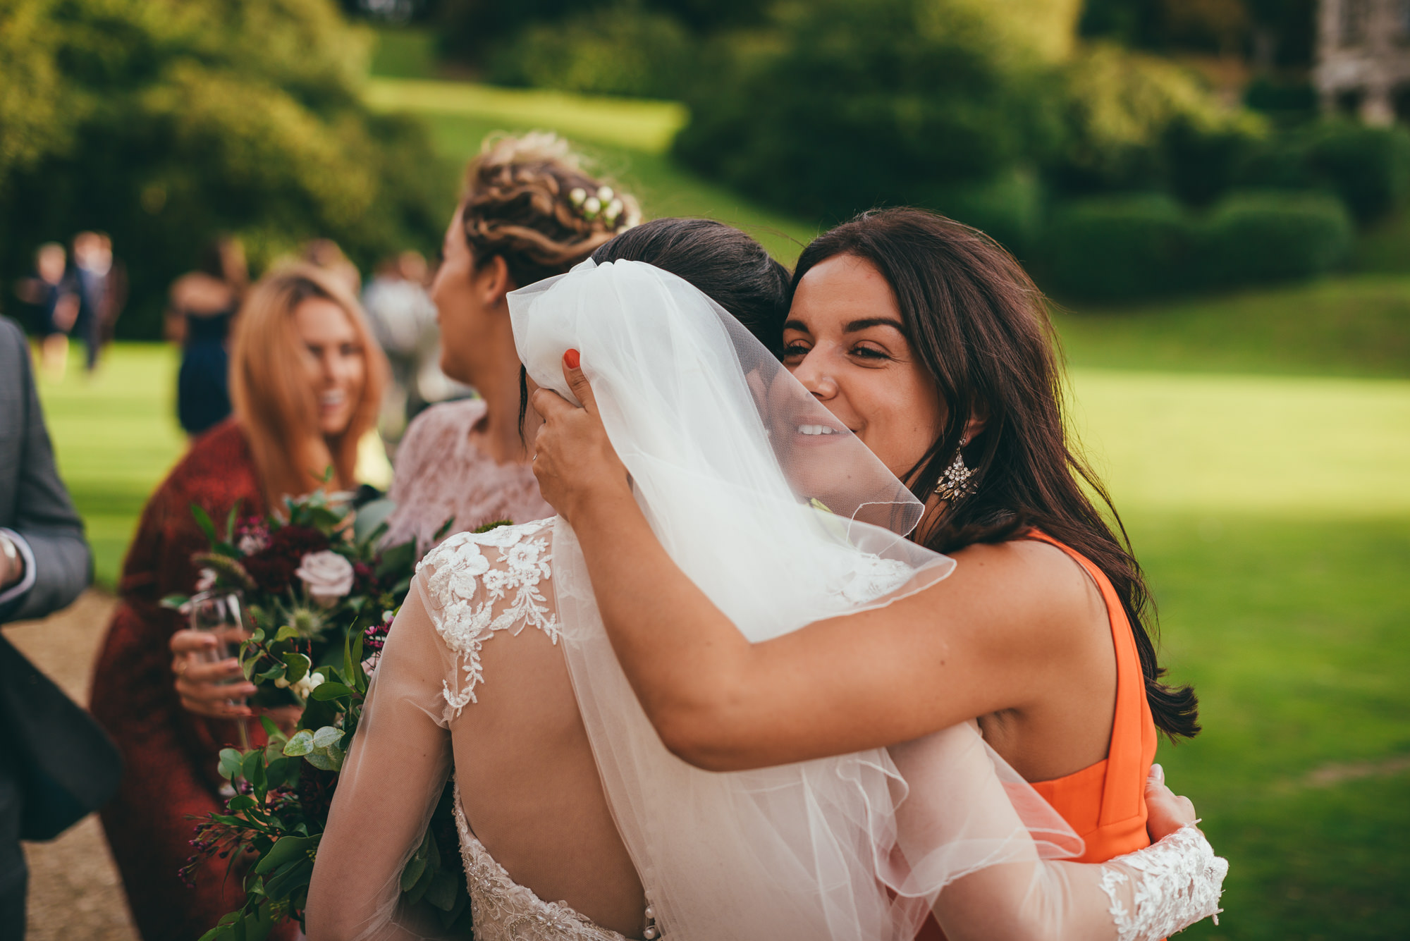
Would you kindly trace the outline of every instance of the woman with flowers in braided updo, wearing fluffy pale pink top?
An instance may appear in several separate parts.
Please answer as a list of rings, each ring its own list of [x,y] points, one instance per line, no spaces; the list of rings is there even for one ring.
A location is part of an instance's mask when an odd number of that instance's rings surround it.
[[[481,397],[433,406],[406,430],[386,545],[415,538],[424,552],[446,520],[454,520],[448,534],[553,516],[519,434],[519,356],[505,296],[567,272],[637,217],[636,200],[585,173],[557,137],[485,141],[467,168],[431,285],[441,369]]]

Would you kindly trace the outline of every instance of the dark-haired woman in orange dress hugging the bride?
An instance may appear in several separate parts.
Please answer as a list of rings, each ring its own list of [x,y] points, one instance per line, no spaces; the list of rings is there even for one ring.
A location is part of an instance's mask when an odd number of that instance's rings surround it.
[[[613,648],[663,741],[736,771],[977,721],[1084,840],[1081,861],[1148,845],[1156,731],[1194,735],[1196,699],[1162,682],[1141,569],[1066,441],[1038,289],[974,230],[866,213],[802,252],[783,334],[785,365],[838,421],[799,425],[797,447],[856,434],[926,503],[912,538],[957,568],[750,645],[661,549],[592,407],[536,393],[540,486],[609,599]],[[565,376],[591,401],[574,355]]]

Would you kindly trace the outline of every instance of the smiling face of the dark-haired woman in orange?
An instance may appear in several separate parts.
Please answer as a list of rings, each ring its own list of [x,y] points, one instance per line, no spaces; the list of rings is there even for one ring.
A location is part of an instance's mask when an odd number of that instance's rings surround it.
[[[784,365],[902,480],[945,427],[945,404],[907,339],[895,294],[863,258],[833,255],[798,282]],[[816,447],[832,428],[799,423],[792,431],[795,447]]]

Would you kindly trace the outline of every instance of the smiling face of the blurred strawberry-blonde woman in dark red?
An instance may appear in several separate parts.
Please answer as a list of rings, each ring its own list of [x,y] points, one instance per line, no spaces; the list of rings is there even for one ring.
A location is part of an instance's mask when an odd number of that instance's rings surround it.
[[[303,368],[319,404],[319,431],[326,437],[347,431],[367,382],[367,358],[357,330],[338,304],[309,297],[293,311],[303,345]]]

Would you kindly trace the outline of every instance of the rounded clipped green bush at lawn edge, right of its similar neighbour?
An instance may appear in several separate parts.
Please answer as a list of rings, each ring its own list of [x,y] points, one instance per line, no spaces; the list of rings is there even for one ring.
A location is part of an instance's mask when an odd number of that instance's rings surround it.
[[[1335,196],[1231,193],[1201,225],[1201,280],[1234,286],[1321,275],[1347,261],[1354,234]]]

